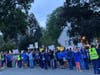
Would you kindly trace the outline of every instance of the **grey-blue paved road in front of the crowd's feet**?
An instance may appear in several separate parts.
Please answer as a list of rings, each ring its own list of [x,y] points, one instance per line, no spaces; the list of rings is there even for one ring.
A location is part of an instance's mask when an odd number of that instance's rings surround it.
[[[44,70],[40,68],[35,69],[18,69],[10,68],[0,71],[0,75],[94,75],[91,70],[77,72],[68,69]]]

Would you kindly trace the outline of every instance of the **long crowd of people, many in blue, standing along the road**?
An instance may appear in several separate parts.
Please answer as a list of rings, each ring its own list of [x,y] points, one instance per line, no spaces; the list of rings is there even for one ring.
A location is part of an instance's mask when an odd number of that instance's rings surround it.
[[[17,67],[17,68],[35,68],[42,69],[66,69],[81,72],[89,70],[92,63],[95,74],[100,74],[100,45],[98,48],[89,47],[74,47],[64,48],[63,50],[55,49],[44,50],[28,49],[23,53],[12,54],[7,52],[0,53],[0,68],[2,67]]]

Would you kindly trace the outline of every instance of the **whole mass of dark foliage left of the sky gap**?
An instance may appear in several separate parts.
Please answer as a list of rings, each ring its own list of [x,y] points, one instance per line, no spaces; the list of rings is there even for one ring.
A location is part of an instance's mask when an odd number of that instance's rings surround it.
[[[13,40],[18,48],[18,35],[27,35],[27,26],[36,27],[36,32],[21,38],[20,48],[26,49],[29,43],[40,39],[39,24],[34,14],[28,13],[33,2],[34,0],[0,0],[0,30],[3,32],[5,42]]]

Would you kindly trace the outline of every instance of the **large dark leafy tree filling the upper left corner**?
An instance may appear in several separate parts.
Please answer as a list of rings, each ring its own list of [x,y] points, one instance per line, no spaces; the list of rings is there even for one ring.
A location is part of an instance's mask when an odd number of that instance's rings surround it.
[[[0,0],[0,30],[4,38],[15,39],[25,34],[28,10],[33,0]]]

